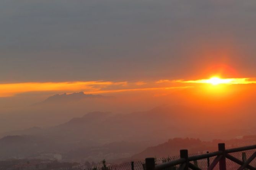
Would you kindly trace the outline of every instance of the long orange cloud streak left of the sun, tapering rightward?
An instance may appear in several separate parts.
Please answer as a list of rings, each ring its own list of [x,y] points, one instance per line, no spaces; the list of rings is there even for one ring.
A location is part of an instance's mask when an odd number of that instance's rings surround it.
[[[155,83],[145,82],[111,82],[111,81],[77,81],[77,82],[24,82],[24,83],[2,83],[0,84],[0,97],[15,96],[20,93],[28,92],[46,92],[46,91],[65,91],[98,94],[115,93],[123,91],[142,91],[142,90],[169,90],[176,87],[171,84],[166,86],[157,86]]]

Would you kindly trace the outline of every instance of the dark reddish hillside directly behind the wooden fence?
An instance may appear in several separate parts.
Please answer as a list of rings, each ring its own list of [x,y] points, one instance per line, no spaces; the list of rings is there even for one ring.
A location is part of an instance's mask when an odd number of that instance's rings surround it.
[[[218,143],[225,143],[226,148],[236,148],[241,146],[255,144],[256,135],[243,136],[242,138],[234,138],[229,140],[217,140],[202,141],[196,138],[173,138],[165,143],[158,144],[157,146],[151,146],[144,151],[135,154],[128,160],[141,160],[146,157],[168,157],[179,156],[180,149],[188,149],[190,154],[196,154],[198,152],[217,151]],[[178,157],[177,157],[178,158]]]

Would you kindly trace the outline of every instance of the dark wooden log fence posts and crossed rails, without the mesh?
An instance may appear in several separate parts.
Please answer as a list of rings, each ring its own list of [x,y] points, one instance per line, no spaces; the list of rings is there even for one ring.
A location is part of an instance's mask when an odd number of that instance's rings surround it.
[[[143,165],[144,170],[202,170],[204,168],[199,168],[197,161],[202,159],[207,159],[207,170],[219,169],[219,170],[256,170],[255,167],[249,165],[256,157],[256,151],[254,151],[251,156],[246,159],[246,154],[243,151],[253,150],[256,149],[256,145],[252,146],[245,146],[240,148],[233,148],[233,149],[225,149],[225,143],[218,144],[218,151],[201,154],[197,156],[188,156],[188,150],[183,149],[180,150],[180,158],[177,160],[173,160],[170,162],[166,162],[163,164],[155,164],[155,158],[146,158],[145,165]],[[242,160],[238,159],[235,156],[232,156],[232,153],[236,152],[243,152],[242,153]],[[210,159],[212,159],[210,164]],[[232,161],[238,167],[234,165],[228,165],[226,159]],[[193,164],[191,163],[193,161]],[[218,167],[217,167],[218,164]]]

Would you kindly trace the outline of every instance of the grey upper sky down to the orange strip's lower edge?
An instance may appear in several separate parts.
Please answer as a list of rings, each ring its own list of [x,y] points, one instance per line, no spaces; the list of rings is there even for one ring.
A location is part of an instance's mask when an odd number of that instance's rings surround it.
[[[3,0],[0,97],[254,84],[255,11],[254,0]]]

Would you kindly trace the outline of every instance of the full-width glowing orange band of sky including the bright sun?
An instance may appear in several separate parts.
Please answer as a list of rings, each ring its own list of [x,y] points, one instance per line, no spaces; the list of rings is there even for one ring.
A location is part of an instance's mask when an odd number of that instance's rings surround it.
[[[189,83],[189,86],[188,86]],[[35,91],[67,91],[85,93],[116,93],[123,91],[170,90],[175,88],[189,88],[196,84],[210,84],[211,86],[226,84],[253,84],[254,78],[220,78],[218,76],[199,80],[158,80],[156,82],[111,82],[111,81],[79,81],[79,82],[25,82],[0,84],[0,97],[15,96],[20,93]],[[185,86],[186,84],[186,86]]]

